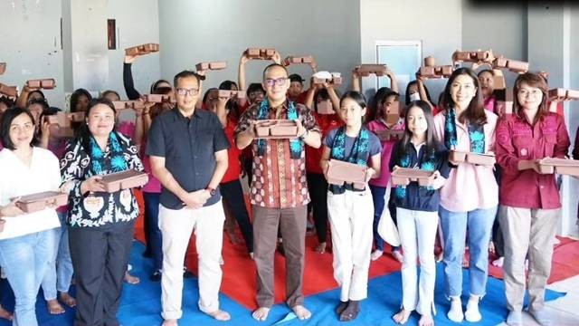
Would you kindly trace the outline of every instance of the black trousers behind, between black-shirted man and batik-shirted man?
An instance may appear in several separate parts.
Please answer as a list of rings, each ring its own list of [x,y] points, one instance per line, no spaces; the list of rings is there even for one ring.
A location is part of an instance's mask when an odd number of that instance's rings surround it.
[[[253,227],[250,222],[250,215],[247,213],[245,198],[243,197],[242,182],[237,179],[225,182],[219,185],[221,195],[225,205],[229,207],[230,212],[235,216],[235,220],[242,230],[243,239],[249,253],[253,252]]]

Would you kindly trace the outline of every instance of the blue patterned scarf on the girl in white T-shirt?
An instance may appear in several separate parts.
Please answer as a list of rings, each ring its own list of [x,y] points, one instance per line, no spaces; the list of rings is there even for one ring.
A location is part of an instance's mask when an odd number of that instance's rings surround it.
[[[332,143],[332,151],[330,153],[330,157],[354,163],[359,166],[366,167],[368,157],[370,154],[370,131],[362,127],[358,136],[354,140],[354,144],[352,145],[352,152],[350,156],[346,158],[346,127],[340,127],[337,129],[336,138],[334,138],[334,142]],[[347,189],[354,190],[352,185],[344,186],[336,186],[336,185],[329,185],[330,191],[333,194],[343,194],[344,191]]]

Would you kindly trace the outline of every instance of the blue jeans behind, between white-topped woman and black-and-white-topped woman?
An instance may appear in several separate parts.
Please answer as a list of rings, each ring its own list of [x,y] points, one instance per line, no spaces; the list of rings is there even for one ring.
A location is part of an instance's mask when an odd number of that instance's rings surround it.
[[[48,268],[44,274],[43,287],[44,300],[56,299],[58,292],[69,292],[72,279],[72,260],[69,251],[69,231],[67,225],[68,212],[58,213],[61,227],[53,228],[46,232],[52,232],[54,255],[48,262]]]

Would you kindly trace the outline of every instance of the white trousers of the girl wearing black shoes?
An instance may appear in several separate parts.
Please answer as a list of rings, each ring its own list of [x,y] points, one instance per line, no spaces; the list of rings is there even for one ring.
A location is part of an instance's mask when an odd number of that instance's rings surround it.
[[[341,286],[340,301],[362,300],[368,291],[374,204],[370,190],[327,192],[327,214],[332,232],[334,278]]]

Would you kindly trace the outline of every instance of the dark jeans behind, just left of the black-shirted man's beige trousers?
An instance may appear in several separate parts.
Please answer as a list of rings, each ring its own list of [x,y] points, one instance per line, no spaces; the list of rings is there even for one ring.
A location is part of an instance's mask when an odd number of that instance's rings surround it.
[[[153,256],[153,271],[160,271],[163,268],[163,235],[159,229],[159,200],[160,193],[143,192],[145,200],[145,218],[148,225],[147,247]]]

